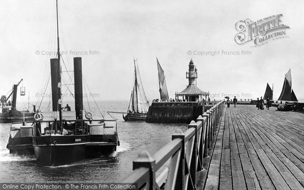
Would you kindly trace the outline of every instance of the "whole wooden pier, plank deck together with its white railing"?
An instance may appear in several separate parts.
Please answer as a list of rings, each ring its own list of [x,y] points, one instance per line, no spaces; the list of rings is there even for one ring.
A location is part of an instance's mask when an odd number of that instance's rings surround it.
[[[154,156],[143,151],[123,182],[139,189],[304,189],[302,113],[220,102],[172,139]]]

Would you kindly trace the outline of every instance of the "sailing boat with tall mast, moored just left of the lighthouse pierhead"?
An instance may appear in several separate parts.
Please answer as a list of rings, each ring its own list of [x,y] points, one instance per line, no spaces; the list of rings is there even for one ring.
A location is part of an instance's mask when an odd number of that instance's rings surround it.
[[[145,121],[149,102],[142,87],[137,59],[134,59],[134,84],[132,89],[128,112],[126,116],[123,115],[123,119],[125,121]]]

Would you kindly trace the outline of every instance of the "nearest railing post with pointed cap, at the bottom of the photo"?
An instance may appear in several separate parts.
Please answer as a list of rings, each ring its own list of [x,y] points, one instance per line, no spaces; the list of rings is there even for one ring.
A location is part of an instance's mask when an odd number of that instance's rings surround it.
[[[146,150],[142,150],[137,159],[133,161],[133,170],[138,168],[149,169],[149,189],[156,189],[157,184],[155,180],[155,159],[153,159]]]

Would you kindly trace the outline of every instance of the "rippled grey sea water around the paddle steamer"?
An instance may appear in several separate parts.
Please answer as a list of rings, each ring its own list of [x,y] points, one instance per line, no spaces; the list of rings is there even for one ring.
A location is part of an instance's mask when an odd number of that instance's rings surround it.
[[[126,111],[128,101],[99,101],[103,114],[106,111]],[[90,103],[91,109],[98,110]],[[72,102],[69,105],[73,105]],[[71,106],[73,109],[73,106]],[[88,108],[87,108],[88,109]],[[9,154],[6,148],[10,124],[0,124],[0,183],[12,182],[120,182],[132,172],[132,161],[142,150],[153,156],[160,147],[171,140],[176,129],[185,131],[185,124],[149,124],[124,122],[122,114],[111,113],[118,120],[120,146],[109,156],[86,159],[57,167],[44,167],[36,162],[34,155]]]

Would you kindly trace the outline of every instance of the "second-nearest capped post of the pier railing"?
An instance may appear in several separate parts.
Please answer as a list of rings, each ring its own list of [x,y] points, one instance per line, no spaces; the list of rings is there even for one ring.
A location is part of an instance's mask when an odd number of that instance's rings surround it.
[[[172,135],[172,140],[177,138],[182,140],[182,147],[174,189],[185,189],[185,135],[180,129],[177,129]]]

